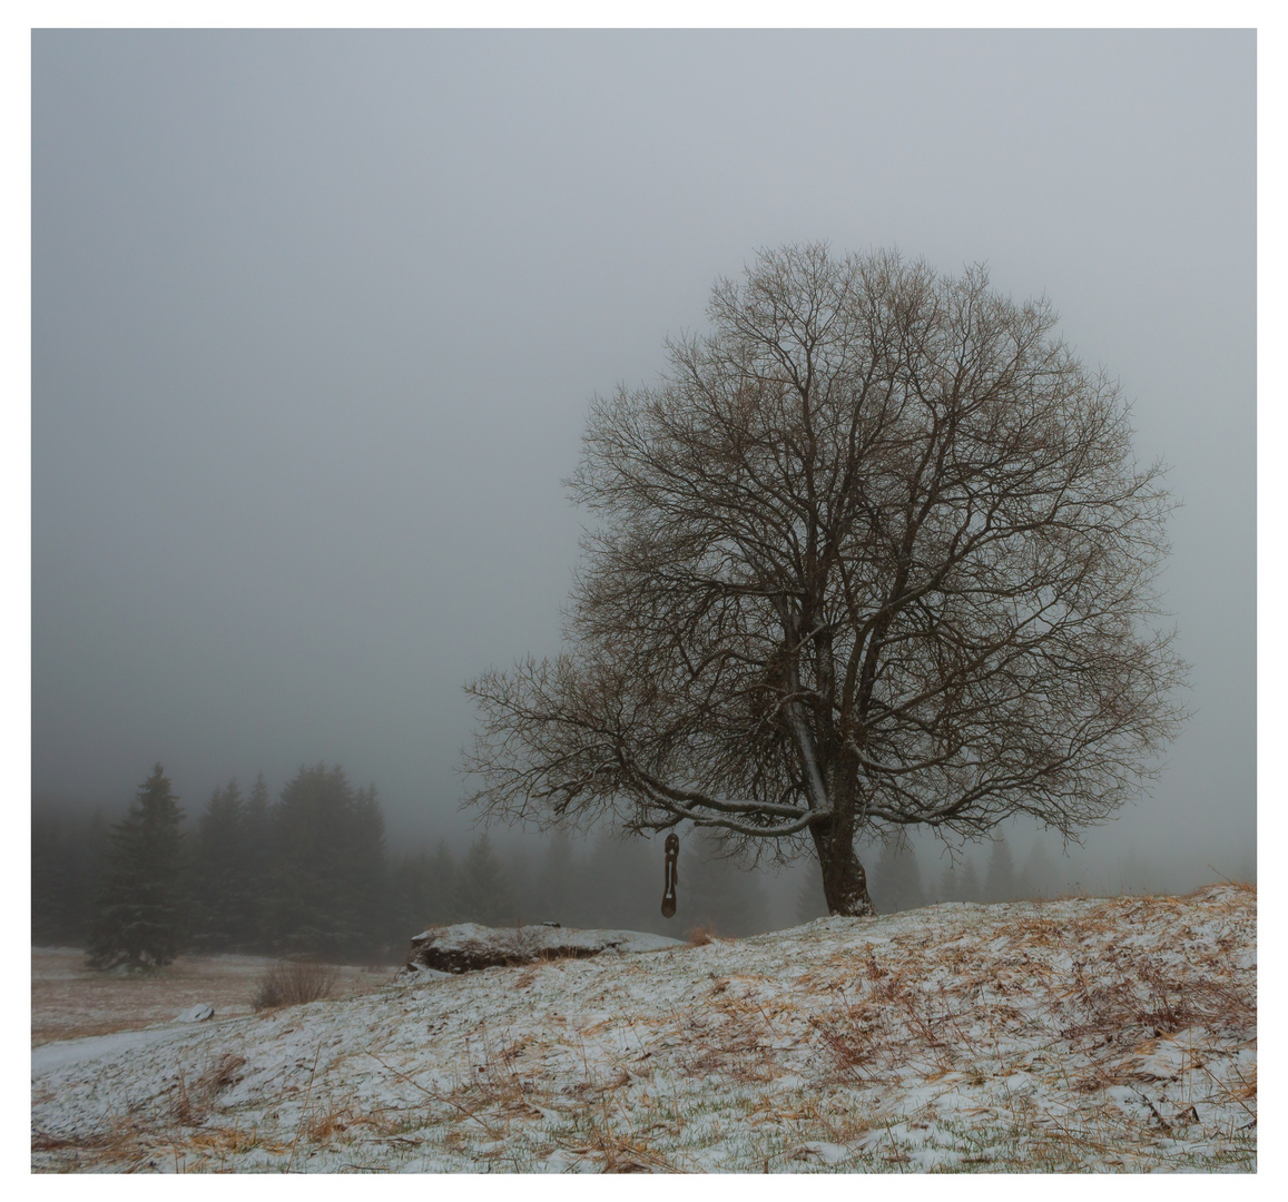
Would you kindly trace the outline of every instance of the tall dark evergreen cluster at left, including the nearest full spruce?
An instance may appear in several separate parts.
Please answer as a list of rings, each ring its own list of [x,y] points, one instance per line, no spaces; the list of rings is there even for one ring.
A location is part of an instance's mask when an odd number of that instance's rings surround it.
[[[99,843],[102,862],[86,947],[99,968],[169,964],[185,948],[370,956],[384,931],[384,819],[375,790],[341,768],[301,768],[270,804],[263,777],[250,797],[215,790],[193,835],[157,764],[126,816]],[[46,855],[49,835],[43,840]],[[84,840],[77,846],[82,846]],[[33,937],[67,934],[62,906],[43,912],[33,857]],[[52,876],[66,876],[54,866]],[[76,940],[80,942],[80,940]]]

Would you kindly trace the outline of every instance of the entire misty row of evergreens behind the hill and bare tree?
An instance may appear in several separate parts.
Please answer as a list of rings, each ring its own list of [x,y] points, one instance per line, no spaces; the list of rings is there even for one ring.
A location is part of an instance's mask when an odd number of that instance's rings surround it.
[[[1005,839],[987,868],[970,857],[923,873],[912,844],[869,849],[869,890],[882,912],[933,902],[1002,902],[1050,889],[1055,864],[1039,844],[1016,870]],[[457,859],[446,841],[390,855],[375,788],[341,768],[301,768],[273,801],[260,776],[215,790],[192,830],[160,764],[129,813],[108,827],[37,812],[32,825],[32,938],[85,946],[95,964],[167,962],[182,949],[392,960],[435,922],[625,928],[721,935],[768,930],[764,879],[688,836],[679,915],[662,919],[657,843],[554,832],[500,854],[484,834]],[[806,873],[796,920],[826,913]]]

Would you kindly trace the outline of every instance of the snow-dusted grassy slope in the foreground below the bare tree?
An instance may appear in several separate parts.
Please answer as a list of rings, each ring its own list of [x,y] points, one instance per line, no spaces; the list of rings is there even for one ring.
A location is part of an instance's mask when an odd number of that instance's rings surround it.
[[[45,1045],[32,1163],[1251,1171],[1256,960],[1256,892],[1220,885],[425,974]]]

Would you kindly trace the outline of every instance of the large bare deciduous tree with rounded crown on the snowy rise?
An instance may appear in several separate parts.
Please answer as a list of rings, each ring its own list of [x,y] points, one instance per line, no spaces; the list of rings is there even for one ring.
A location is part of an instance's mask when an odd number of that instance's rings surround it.
[[[1185,674],[1118,388],[979,268],[787,247],[708,314],[591,405],[569,649],[468,685],[471,801],[813,845],[840,915],[873,912],[860,834],[1110,816]]]

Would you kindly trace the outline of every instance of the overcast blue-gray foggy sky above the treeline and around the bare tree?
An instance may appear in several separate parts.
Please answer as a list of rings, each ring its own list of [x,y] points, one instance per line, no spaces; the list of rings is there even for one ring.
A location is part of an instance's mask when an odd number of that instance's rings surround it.
[[[1046,292],[1184,501],[1195,718],[1139,841],[1255,839],[1251,32],[36,32],[32,786],[303,763],[459,834],[559,645],[586,402],[823,238]],[[1227,866],[1227,867],[1222,867]]]

